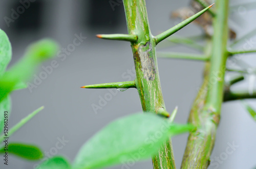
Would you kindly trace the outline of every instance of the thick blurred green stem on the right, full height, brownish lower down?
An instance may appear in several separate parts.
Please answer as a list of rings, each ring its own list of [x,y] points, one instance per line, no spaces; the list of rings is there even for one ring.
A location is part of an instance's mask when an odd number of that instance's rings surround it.
[[[181,168],[207,168],[214,147],[223,102],[224,75],[227,59],[228,0],[217,0],[214,37],[209,66],[202,91],[191,109],[189,122],[198,126],[190,132]]]

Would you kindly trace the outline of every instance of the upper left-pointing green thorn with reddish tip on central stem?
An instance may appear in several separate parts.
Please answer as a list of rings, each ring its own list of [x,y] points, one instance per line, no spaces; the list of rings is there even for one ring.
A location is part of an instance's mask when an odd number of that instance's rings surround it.
[[[102,39],[110,39],[110,40],[119,40],[119,41],[129,41],[129,42],[137,42],[137,35],[129,35],[129,34],[110,34],[110,35],[96,35],[98,38]]]

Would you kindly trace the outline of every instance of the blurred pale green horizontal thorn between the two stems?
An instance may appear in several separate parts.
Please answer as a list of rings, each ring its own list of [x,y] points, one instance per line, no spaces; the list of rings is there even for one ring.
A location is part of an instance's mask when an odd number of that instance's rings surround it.
[[[210,57],[202,54],[176,53],[176,52],[158,52],[158,58],[188,59],[198,61],[208,61]]]

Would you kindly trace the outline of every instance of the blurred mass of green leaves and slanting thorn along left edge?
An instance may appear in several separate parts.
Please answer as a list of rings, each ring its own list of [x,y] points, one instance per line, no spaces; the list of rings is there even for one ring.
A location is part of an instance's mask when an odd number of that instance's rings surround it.
[[[57,50],[58,44],[53,40],[44,39],[35,42],[28,47],[25,57],[6,71],[11,60],[12,48],[8,36],[0,30],[0,132],[4,131],[0,137],[1,144],[4,144],[0,145],[2,147],[0,154],[8,152],[29,160],[37,160],[44,156],[42,151],[34,145],[9,143],[9,140],[5,143],[5,137],[11,136],[43,108],[38,108],[10,129],[8,126],[11,110],[10,93],[27,88],[26,82],[31,78],[37,66],[54,57]]]

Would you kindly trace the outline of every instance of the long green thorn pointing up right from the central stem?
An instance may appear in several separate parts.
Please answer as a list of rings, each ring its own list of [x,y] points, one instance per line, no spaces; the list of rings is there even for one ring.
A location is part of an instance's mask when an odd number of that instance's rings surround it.
[[[214,5],[214,4],[212,4]],[[183,27],[185,27],[187,24],[189,24],[190,22],[194,21],[195,19],[197,19],[200,15],[202,15],[205,11],[207,11],[208,9],[210,9],[210,7],[212,7],[212,5],[210,5],[209,7],[203,9],[202,11],[196,13],[195,15],[187,18],[186,20],[184,20],[183,22],[175,25],[174,27],[172,27],[171,29],[157,35],[155,37],[155,41],[156,44],[158,44],[159,42],[161,42],[162,40],[168,38],[170,35],[173,35],[174,33],[178,32],[179,30],[181,30]]]

